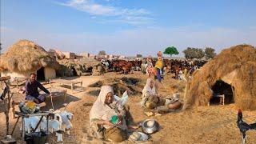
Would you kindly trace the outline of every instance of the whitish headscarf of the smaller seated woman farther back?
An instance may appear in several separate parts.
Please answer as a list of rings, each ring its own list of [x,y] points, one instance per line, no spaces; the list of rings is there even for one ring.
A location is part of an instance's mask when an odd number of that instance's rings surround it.
[[[149,96],[149,95],[155,95],[157,94],[157,90],[155,88],[155,83],[154,83],[154,86],[153,88],[151,89],[150,87],[150,82],[154,80],[152,78],[147,78],[146,80],[146,85],[144,86],[143,90],[142,90],[142,102],[141,102],[141,105],[142,106],[145,106],[146,104],[146,98]]]

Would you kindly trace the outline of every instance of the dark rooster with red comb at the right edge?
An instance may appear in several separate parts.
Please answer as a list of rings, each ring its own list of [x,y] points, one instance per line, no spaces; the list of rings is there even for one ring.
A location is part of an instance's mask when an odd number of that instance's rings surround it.
[[[256,130],[256,123],[247,124],[242,120],[242,110],[238,110],[238,121],[237,121],[238,128],[242,133],[242,143],[246,143],[246,131],[247,130]]]

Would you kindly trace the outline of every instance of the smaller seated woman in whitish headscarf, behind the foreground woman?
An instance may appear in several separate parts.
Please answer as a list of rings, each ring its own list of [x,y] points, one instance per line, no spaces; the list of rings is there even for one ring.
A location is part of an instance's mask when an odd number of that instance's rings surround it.
[[[142,90],[142,102],[141,105],[148,109],[154,109],[157,106],[164,106],[166,100],[160,98],[160,95],[157,92],[156,84],[152,78],[147,78],[146,86]]]

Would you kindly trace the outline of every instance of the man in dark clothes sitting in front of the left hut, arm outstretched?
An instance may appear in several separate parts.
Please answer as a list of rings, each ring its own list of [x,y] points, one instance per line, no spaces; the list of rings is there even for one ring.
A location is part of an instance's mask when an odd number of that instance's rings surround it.
[[[36,77],[37,74],[32,73],[30,74],[30,80],[26,82],[26,100],[39,104],[46,100],[46,95],[39,95],[38,87],[46,94],[50,94],[50,92],[36,80]]]

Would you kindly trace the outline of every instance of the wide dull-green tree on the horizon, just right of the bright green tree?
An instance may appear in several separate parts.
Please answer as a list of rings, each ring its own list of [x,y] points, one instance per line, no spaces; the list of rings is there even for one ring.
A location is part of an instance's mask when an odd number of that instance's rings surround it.
[[[193,48],[193,47],[186,48],[186,50],[183,50],[183,53],[185,54],[185,58],[188,58],[188,59],[193,59],[193,58],[201,59],[205,56],[205,53],[202,49]]]

